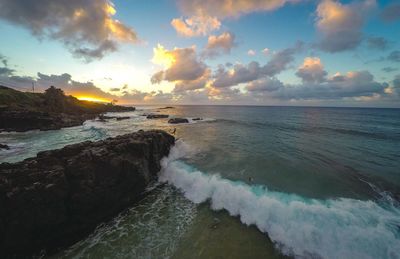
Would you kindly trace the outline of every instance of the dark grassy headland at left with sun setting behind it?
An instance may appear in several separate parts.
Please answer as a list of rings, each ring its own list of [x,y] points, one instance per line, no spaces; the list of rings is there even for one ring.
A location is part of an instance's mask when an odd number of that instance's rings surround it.
[[[29,93],[0,85],[0,132],[73,127],[105,112],[134,110],[114,103],[78,100],[54,86],[44,93]]]

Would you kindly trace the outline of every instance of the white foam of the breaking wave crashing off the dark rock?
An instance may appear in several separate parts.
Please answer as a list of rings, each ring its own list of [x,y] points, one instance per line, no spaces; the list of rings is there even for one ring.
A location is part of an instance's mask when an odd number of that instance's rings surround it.
[[[374,201],[316,200],[249,186],[200,172],[182,161],[177,142],[162,161],[160,181],[194,203],[209,201],[242,223],[256,225],[287,255],[322,258],[400,258],[400,209]]]

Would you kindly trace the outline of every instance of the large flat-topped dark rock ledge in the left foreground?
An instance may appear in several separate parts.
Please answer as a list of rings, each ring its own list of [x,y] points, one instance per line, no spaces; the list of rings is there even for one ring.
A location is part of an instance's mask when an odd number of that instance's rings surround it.
[[[54,252],[143,197],[174,137],[139,131],[0,164],[0,258]]]

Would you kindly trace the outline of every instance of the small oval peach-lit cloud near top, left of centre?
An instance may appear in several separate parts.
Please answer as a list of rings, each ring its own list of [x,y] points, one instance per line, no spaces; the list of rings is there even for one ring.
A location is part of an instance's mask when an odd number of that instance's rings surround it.
[[[181,36],[195,37],[205,36],[221,27],[221,22],[215,18],[205,15],[190,18],[176,18],[171,21],[172,27]]]

